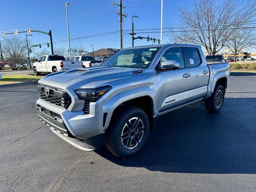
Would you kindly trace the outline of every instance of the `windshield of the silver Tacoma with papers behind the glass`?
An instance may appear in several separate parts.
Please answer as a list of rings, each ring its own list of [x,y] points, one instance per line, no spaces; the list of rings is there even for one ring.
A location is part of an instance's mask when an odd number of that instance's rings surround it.
[[[161,47],[122,49],[110,56],[102,66],[148,68]]]

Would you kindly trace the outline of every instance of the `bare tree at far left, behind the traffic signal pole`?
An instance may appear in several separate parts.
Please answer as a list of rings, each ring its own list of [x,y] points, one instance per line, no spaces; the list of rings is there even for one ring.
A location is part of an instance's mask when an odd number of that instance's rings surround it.
[[[26,62],[28,57],[26,38],[17,36],[4,38],[2,53],[7,62],[11,62],[13,64]]]

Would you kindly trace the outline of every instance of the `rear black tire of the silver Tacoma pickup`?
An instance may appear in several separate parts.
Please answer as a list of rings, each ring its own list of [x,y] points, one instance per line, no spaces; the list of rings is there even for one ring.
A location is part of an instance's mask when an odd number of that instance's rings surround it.
[[[220,92],[222,94],[222,100],[217,102],[218,96],[220,96]],[[214,92],[210,98],[204,101],[205,108],[210,113],[218,113],[223,106],[224,103],[225,90],[222,85],[216,85]]]

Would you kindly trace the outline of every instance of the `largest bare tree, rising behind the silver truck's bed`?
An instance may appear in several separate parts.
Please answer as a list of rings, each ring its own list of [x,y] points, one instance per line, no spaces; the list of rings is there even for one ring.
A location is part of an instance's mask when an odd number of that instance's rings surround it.
[[[203,46],[215,54],[240,26],[256,16],[255,0],[194,0],[178,8],[178,27],[170,26],[170,40]]]

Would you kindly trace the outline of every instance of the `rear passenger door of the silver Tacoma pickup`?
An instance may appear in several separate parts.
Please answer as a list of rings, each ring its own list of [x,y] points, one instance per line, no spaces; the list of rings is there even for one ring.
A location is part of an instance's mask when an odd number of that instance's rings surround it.
[[[189,100],[194,102],[206,96],[210,72],[206,60],[201,57],[201,55],[204,55],[202,50],[196,47],[185,47],[185,54],[187,58],[186,65],[191,73]]]

